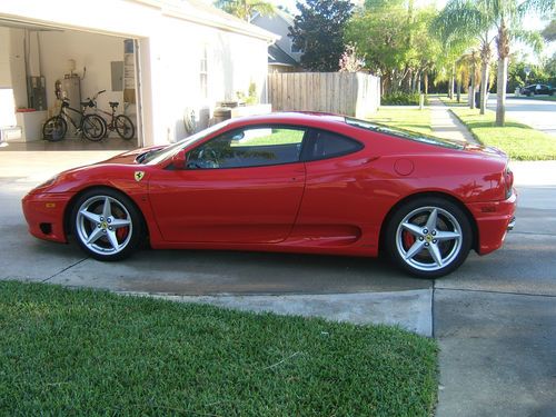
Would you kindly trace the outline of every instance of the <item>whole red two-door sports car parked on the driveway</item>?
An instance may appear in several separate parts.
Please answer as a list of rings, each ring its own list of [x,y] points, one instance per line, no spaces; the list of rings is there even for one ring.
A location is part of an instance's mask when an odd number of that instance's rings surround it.
[[[493,148],[334,115],[228,120],[180,142],[70,169],[23,198],[30,232],[100,260],[152,248],[375,257],[434,278],[514,225]]]

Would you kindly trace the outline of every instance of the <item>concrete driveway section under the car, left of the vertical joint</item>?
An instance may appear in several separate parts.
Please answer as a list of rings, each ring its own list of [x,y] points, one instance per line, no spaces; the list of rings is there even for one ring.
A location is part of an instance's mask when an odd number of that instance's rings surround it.
[[[0,279],[131,294],[195,296],[188,300],[361,324],[399,324],[431,335],[431,281],[404,276],[380,259],[143,250],[125,262],[105,264],[86,257],[76,245],[41,241],[28,234],[20,200],[29,189],[62,169],[115,153],[117,151],[0,149],[0,232],[3,236]]]

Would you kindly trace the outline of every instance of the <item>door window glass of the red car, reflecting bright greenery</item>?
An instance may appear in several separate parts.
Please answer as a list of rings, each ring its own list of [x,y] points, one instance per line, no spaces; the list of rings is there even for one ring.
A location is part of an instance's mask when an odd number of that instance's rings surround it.
[[[271,126],[232,130],[190,151],[187,168],[248,168],[298,162],[305,131]]]

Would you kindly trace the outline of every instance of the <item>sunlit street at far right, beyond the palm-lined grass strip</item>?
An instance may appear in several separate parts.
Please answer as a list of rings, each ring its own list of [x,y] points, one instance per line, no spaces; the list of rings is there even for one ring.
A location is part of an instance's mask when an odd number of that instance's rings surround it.
[[[487,107],[490,110],[496,110],[496,95],[489,96]],[[556,136],[556,101],[532,100],[509,96],[506,99],[506,117]]]

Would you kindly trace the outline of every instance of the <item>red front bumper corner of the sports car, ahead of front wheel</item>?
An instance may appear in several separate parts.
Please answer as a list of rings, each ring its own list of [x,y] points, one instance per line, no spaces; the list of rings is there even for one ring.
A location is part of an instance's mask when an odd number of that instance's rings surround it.
[[[29,232],[44,240],[67,244],[63,215],[73,193],[33,193],[23,197],[21,205]]]

